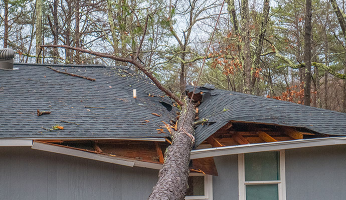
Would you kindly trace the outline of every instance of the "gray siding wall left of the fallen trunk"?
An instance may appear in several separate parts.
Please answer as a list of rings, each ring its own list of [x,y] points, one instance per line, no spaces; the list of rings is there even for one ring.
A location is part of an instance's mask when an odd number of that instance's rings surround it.
[[[158,170],[0,147],[0,199],[147,199]]]

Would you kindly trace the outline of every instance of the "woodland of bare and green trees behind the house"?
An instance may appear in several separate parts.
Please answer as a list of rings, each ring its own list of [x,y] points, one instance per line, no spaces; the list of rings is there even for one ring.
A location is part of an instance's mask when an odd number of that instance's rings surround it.
[[[186,84],[196,83],[221,4],[3,0],[0,45],[13,48],[17,62],[127,65],[141,72],[128,62],[40,45],[136,56],[180,96]],[[344,0],[226,0],[225,5],[199,85],[346,112]]]

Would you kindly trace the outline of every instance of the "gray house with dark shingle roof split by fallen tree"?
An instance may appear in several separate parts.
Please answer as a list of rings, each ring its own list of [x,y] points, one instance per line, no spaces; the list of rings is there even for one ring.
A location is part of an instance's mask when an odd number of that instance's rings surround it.
[[[212,85],[194,96],[186,199],[344,199],[346,114]],[[177,112],[122,66],[0,69],[0,199],[146,199]]]

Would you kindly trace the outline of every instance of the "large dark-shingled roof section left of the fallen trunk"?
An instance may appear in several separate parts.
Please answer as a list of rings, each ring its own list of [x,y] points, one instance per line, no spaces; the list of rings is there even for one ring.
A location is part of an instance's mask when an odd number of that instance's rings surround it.
[[[0,70],[0,138],[167,136],[156,129],[178,109],[151,80],[123,66],[50,65],[95,81],[46,66],[17,63],[15,70]],[[51,113],[38,116],[37,109]],[[64,129],[47,130],[57,124]]]

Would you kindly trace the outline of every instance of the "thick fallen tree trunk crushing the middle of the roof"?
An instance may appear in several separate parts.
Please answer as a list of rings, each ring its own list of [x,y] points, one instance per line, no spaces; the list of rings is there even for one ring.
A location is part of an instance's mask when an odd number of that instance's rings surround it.
[[[194,134],[195,121],[194,105],[183,107],[179,121],[178,130],[183,127],[190,134]],[[182,126],[184,117],[186,121]],[[174,131],[172,144],[167,147],[164,154],[164,164],[158,173],[158,181],[153,187],[149,200],[170,199],[183,200],[188,189],[190,151],[194,143],[183,131]]]

